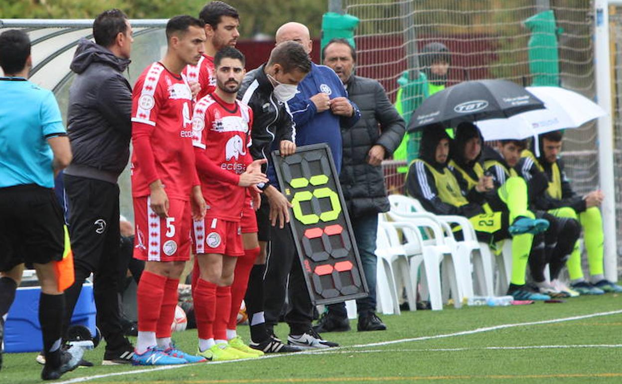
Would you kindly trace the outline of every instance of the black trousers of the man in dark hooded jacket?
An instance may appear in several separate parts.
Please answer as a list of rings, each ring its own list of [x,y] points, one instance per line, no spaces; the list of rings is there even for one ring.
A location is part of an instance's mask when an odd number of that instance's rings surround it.
[[[67,331],[82,283],[93,273],[96,323],[106,339],[106,349],[126,344],[119,315],[119,276],[127,263],[119,260],[119,186],[101,180],[65,175],[70,205],[69,235],[72,241],[75,283],[65,291]]]

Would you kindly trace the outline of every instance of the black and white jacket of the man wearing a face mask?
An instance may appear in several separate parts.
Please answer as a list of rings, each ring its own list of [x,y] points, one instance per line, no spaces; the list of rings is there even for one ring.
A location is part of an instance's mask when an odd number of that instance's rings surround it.
[[[274,86],[267,78],[266,64],[246,73],[238,91],[238,99],[253,110],[251,156],[254,160],[270,159],[272,144],[295,140],[295,123],[287,103],[272,94]]]

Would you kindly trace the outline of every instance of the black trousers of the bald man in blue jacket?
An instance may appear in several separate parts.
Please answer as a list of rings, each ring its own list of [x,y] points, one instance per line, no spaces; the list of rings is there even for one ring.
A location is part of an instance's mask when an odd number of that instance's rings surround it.
[[[289,224],[282,229],[271,227],[270,230],[264,277],[264,316],[269,330],[279,322],[285,294],[289,294],[285,321],[289,324],[290,334],[304,334],[313,321],[313,304]]]

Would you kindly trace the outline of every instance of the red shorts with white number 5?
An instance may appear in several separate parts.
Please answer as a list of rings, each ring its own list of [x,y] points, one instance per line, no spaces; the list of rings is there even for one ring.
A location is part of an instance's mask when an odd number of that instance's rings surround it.
[[[151,199],[134,197],[134,258],[146,261],[190,260],[190,202],[169,200],[169,217],[159,217]]]

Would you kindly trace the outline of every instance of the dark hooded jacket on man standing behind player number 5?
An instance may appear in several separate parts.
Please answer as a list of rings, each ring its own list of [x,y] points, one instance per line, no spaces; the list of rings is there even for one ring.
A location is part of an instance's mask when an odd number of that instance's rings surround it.
[[[132,88],[123,71],[129,63],[90,40],[78,43],[67,111],[73,160],[65,174],[116,183],[128,164]]]

